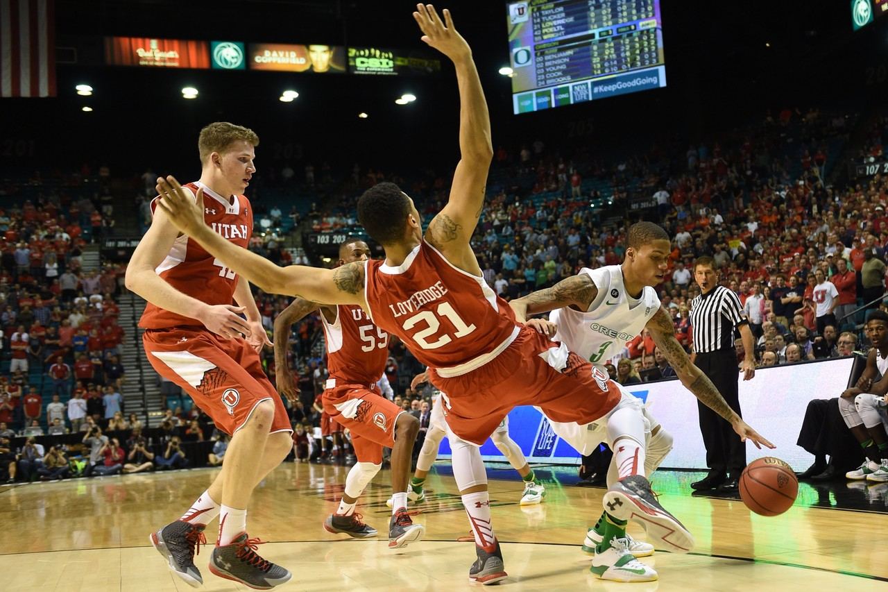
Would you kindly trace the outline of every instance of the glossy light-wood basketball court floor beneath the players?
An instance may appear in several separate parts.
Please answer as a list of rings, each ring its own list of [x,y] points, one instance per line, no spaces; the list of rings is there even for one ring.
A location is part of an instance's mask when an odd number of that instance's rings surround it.
[[[447,472],[446,464],[441,466]],[[218,469],[111,476],[0,488],[0,589],[190,590],[148,545],[150,532],[177,518]],[[377,528],[376,540],[331,535],[321,522],[335,506],[347,468],[286,463],[260,485],[251,504],[250,536],[294,573],[281,590],[464,590],[474,560],[452,477],[430,475],[428,500],[418,506],[425,539],[387,548],[388,471],[381,471],[359,505]],[[542,472],[542,471],[540,471]],[[490,471],[494,528],[503,543],[511,590],[860,590],[888,589],[888,514],[800,503],[773,518],[756,516],[739,500],[687,495],[687,474],[657,473],[663,505],[694,533],[697,547],[681,556],[657,552],[643,561],[657,582],[597,580],[579,544],[601,511],[599,488],[547,485],[540,506],[521,508],[514,472]],[[508,477],[508,479],[498,478]],[[215,539],[217,523],[208,529]],[[212,532],[212,533],[211,533]],[[630,532],[643,533],[638,527]],[[206,568],[210,547],[195,563],[206,590],[246,590]]]

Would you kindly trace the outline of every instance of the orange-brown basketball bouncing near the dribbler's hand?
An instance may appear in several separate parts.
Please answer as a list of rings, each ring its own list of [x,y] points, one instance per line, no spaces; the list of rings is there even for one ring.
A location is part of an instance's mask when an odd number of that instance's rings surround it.
[[[780,459],[766,456],[753,460],[740,476],[740,498],[760,516],[777,516],[796,500],[798,479]]]

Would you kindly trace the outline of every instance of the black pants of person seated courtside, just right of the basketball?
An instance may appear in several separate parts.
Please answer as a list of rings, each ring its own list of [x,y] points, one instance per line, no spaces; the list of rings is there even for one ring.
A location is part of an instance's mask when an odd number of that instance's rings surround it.
[[[860,467],[863,462],[863,450],[844,425],[837,398],[808,403],[796,444],[814,455],[829,454],[829,461],[839,473]]]

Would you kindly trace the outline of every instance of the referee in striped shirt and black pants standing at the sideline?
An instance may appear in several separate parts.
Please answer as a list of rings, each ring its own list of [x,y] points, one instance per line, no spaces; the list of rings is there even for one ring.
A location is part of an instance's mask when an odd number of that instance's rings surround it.
[[[749,380],[756,374],[755,343],[749,322],[737,294],[718,285],[718,271],[711,257],[700,257],[694,261],[694,280],[702,293],[691,301],[694,338],[691,361],[712,380],[731,409],[742,417],[733,332],[734,329],[740,330],[745,352],[743,380]],[[706,465],[710,472],[702,480],[692,483],[691,487],[697,491],[718,489],[721,492],[736,492],[737,480],[746,467],[746,446],[734,433],[731,424],[716,412],[699,401],[697,407],[700,410],[703,444],[706,445]]]

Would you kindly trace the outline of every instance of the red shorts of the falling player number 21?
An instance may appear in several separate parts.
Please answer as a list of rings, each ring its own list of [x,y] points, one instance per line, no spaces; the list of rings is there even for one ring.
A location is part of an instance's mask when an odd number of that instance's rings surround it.
[[[512,407],[535,405],[552,421],[584,425],[613,409],[621,396],[607,374],[530,327],[522,327],[503,353],[471,372],[430,368],[429,376],[444,397],[450,429],[478,445]]]

